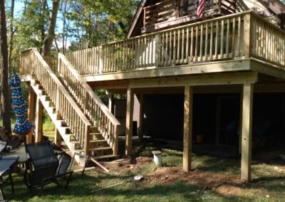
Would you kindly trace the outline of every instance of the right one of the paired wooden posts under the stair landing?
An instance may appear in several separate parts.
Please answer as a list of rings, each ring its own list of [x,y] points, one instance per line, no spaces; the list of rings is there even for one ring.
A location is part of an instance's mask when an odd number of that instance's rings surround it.
[[[43,104],[39,97],[36,97],[36,117],[35,117],[35,142],[41,142],[43,137]]]

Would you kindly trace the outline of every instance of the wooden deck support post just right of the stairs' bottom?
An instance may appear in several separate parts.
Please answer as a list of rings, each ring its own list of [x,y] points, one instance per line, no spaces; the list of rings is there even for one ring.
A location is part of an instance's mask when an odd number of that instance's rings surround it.
[[[125,117],[125,154],[130,156],[133,139],[133,103],[134,93],[129,87],[127,92],[127,114]]]

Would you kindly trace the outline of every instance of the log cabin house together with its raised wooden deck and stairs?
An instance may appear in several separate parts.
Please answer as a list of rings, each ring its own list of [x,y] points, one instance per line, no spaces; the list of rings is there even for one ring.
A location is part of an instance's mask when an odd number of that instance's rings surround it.
[[[284,141],[285,6],[278,0],[206,0],[198,18],[197,4],[142,0],[123,41],[56,59],[42,58],[33,48],[21,53],[36,141],[44,107],[56,124],[57,144],[62,137],[72,152],[112,158],[125,127],[130,155],[136,99],[139,125],[153,136],[181,137],[184,171],[191,170],[192,134],[195,139],[202,133],[212,144],[234,142],[242,155],[241,177],[250,180],[252,117],[269,119],[272,133]],[[102,88],[110,95],[109,107],[95,95]],[[127,97],[123,126],[114,116],[114,94]],[[223,133],[231,122],[240,125],[233,137]]]

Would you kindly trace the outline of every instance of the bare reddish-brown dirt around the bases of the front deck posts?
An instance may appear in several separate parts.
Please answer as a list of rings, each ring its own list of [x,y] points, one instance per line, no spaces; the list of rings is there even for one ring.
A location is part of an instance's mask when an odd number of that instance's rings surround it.
[[[136,174],[136,169],[140,166],[150,164],[150,157],[138,157],[136,159],[121,159],[118,169],[111,171],[119,171],[120,173],[132,172]],[[201,188],[201,191],[214,190],[223,196],[240,195],[242,189],[247,187],[246,182],[237,176],[229,176],[227,174],[214,174],[204,171],[182,171],[180,167],[155,167],[150,174],[145,177],[157,184],[171,184],[173,181],[185,181],[187,184]]]

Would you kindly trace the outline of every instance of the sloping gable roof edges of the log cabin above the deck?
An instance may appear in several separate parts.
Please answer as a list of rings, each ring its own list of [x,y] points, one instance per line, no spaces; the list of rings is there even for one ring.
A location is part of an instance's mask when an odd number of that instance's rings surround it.
[[[275,15],[285,14],[285,5],[279,0],[257,0],[263,4],[269,11]],[[130,24],[130,28],[127,33],[127,38],[131,38],[134,35],[135,27],[138,26],[138,22],[143,20],[142,10],[145,7],[145,4],[150,3],[150,0],[141,0],[140,5],[138,6],[135,16],[133,16],[133,21]]]

